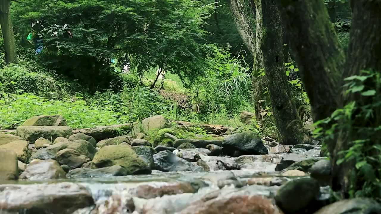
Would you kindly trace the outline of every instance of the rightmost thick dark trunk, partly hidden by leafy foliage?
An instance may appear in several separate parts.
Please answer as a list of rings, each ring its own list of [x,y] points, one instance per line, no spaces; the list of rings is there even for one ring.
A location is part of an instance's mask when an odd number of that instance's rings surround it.
[[[347,59],[351,60],[346,62],[343,78],[353,75],[362,75],[362,70],[381,73],[381,41],[379,40],[379,35],[381,34],[381,14],[379,13],[379,11],[381,11],[381,1],[355,0],[351,1],[351,8],[352,28],[347,50]],[[365,85],[369,89],[377,88],[372,82],[366,82]],[[377,93],[379,93],[379,91]],[[344,96],[342,101],[343,105],[355,101],[357,111],[360,111],[361,107],[373,104],[374,102],[372,97],[360,96],[358,93]],[[361,129],[372,128],[375,130],[381,125],[381,109],[372,110],[373,117],[354,117],[352,123]],[[379,136],[380,133],[374,131],[370,139],[371,145],[368,146],[379,145],[381,143]],[[344,162],[338,166],[336,161],[342,158],[338,152],[349,149],[352,146],[349,142],[363,138],[364,136],[357,135],[357,130],[346,133],[345,136],[339,136],[335,148],[330,151],[333,172],[335,172],[334,177],[338,179],[337,182],[339,182],[339,187],[341,187],[343,193],[348,193],[351,185],[362,188],[363,181],[357,179],[352,180],[352,184],[350,183],[351,172],[356,170],[354,167],[355,163],[352,161]],[[374,152],[374,156],[372,156],[379,157],[377,151]],[[379,168],[378,161],[373,163],[368,161],[368,163],[371,164],[374,169]],[[378,179],[380,179],[380,177],[378,177]],[[379,194],[378,192],[375,196],[380,196]]]

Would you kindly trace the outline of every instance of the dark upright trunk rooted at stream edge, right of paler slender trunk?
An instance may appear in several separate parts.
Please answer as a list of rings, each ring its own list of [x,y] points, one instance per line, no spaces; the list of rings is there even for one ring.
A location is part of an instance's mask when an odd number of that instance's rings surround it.
[[[303,144],[304,136],[307,138],[307,135],[295,104],[291,101],[291,89],[285,71],[283,29],[275,0],[262,0],[262,14],[265,33],[261,50],[272,112],[279,131],[279,144]]]

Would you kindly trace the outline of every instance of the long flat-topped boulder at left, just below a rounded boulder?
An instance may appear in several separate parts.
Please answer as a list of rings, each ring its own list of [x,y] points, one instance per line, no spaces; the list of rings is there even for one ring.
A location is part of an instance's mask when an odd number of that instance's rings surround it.
[[[51,142],[57,137],[68,138],[72,129],[68,126],[19,126],[17,135],[33,144],[38,138],[43,137]]]

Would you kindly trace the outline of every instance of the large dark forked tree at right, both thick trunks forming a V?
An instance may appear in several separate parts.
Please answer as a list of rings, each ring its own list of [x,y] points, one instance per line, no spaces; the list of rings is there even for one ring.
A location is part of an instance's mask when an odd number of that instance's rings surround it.
[[[358,93],[354,96],[346,95],[344,93],[346,88],[342,86],[344,78],[359,76],[362,70],[373,71],[378,75],[381,73],[381,41],[379,40],[381,1],[351,1],[352,28],[346,57],[339,45],[323,0],[277,1],[282,11],[282,21],[287,27],[289,38],[292,39],[291,48],[311,100],[315,121],[329,117],[336,109],[349,103],[355,103],[355,113],[372,105],[372,99],[365,99]],[[348,60],[345,62],[345,59]],[[373,85],[374,81],[367,81],[364,84],[366,88],[376,88],[376,85]],[[340,151],[349,149],[352,142],[362,140],[360,131],[380,125],[380,110],[371,110],[374,113],[369,117],[358,118],[355,114],[353,115],[353,123],[359,128],[352,129],[350,132],[334,133],[333,139],[327,142],[333,185],[341,188],[343,193],[348,193],[351,185],[355,188],[363,186],[359,180],[352,180],[350,183],[350,175],[358,171],[354,167],[355,163],[344,161],[338,164],[337,160],[343,158]],[[324,130],[330,126],[331,124],[326,123],[322,128]],[[374,136],[377,134],[373,134],[369,141],[371,144],[369,146],[372,148],[381,143],[379,138]],[[371,167],[377,169],[379,166]]]

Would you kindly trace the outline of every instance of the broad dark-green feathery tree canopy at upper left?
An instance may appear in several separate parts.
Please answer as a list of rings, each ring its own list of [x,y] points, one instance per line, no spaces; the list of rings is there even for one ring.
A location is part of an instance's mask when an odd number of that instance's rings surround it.
[[[20,0],[12,4],[16,32],[43,38],[42,60],[56,72],[104,89],[117,79],[110,66],[128,54],[141,59],[139,75],[160,65],[194,79],[199,75],[214,4],[200,0]],[[38,21],[35,22],[35,21]],[[31,29],[30,24],[36,25]],[[35,41],[34,41],[35,42]],[[115,88],[116,90],[120,88]]]

